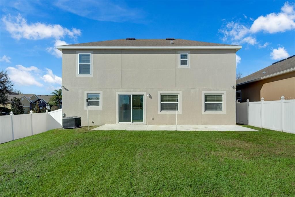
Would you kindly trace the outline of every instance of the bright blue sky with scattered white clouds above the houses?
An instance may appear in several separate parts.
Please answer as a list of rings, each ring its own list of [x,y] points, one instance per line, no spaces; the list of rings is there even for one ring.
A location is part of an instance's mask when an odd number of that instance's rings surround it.
[[[238,44],[243,76],[295,54],[294,1],[0,3],[0,70],[23,93],[60,87],[62,61],[54,46],[67,43],[173,37]]]

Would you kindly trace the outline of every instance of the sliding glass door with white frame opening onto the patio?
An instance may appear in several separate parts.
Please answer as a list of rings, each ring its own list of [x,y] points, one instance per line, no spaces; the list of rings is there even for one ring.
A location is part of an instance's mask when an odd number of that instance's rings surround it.
[[[143,95],[119,95],[119,122],[143,122]]]

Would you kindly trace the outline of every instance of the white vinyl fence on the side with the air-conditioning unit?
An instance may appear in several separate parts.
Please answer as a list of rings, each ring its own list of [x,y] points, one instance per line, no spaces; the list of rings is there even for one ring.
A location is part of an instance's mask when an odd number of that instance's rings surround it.
[[[62,128],[62,109],[45,113],[0,116],[0,144]]]

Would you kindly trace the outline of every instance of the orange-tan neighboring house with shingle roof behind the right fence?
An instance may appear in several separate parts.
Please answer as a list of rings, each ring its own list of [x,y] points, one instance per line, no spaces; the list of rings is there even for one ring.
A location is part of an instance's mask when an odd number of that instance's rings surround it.
[[[295,99],[295,56],[273,63],[264,69],[237,80],[239,102]]]

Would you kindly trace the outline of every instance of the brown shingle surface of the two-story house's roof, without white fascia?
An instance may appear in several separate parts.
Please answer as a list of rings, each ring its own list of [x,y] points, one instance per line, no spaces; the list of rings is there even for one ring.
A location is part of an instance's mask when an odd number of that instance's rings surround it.
[[[173,41],[173,44],[170,42]],[[227,44],[217,44],[217,43],[207,43],[194,40],[166,40],[166,39],[136,39],[136,40],[107,40],[100,42],[91,43],[80,43],[62,46],[101,46],[101,47],[137,47],[137,46],[151,46],[151,47],[166,47],[166,46],[237,46],[237,45],[227,45]]]

